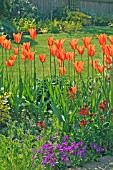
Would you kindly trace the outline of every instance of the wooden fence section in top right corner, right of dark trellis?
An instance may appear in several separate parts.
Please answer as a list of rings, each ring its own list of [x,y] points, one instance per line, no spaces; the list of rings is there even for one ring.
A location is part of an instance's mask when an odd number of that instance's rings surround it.
[[[92,14],[113,15],[113,0],[79,0],[79,9]]]

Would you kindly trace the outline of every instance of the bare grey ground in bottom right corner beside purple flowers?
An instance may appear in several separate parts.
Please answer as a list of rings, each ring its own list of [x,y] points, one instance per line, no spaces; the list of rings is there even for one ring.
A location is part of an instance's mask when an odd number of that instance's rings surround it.
[[[81,167],[69,168],[68,170],[113,170],[113,155],[104,156],[98,162],[85,163]]]

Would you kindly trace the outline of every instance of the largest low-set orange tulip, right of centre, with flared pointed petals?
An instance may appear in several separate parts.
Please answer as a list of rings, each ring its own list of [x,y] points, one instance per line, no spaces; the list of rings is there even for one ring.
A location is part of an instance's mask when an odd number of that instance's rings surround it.
[[[73,63],[74,69],[77,73],[82,73],[84,69],[84,62],[82,61],[76,61]]]

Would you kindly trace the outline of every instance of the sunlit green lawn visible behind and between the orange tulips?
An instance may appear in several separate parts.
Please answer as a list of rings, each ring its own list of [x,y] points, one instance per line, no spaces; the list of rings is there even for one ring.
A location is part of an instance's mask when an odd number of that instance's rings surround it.
[[[47,55],[47,59],[46,62],[44,63],[44,74],[45,76],[47,76],[49,74],[49,49],[48,49],[48,45],[47,45],[47,37],[54,37],[54,39],[62,39],[65,38],[66,41],[64,43],[64,47],[66,49],[66,51],[72,51],[70,48],[70,45],[68,43],[68,40],[72,40],[74,38],[78,38],[79,42],[78,45],[83,45],[82,42],[82,37],[87,37],[87,36],[93,36],[92,39],[92,44],[96,44],[96,54],[93,57],[93,59],[99,59],[101,61],[102,59],[102,52],[101,52],[101,48],[100,45],[98,43],[98,40],[96,38],[97,34],[101,34],[101,33],[106,33],[107,35],[113,35],[113,28],[110,27],[84,27],[81,31],[76,31],[75,33],[60,33],[60,34],[37,34],[37,38],[35,41],[32,41],[29,35],[24,35],[22,37],[22,41],[21,44],[23,42],[31,42],[31,51],[34,50],[34,46],[36,49],[36,67],[37,67],[37,78],[42,78],[42,65],[38,59],[38,54],[46,54]],[[107,42],[109,43],[109,41]],[[17,47],[17,44],[15,44],[12,41],[13,44],[13,48]],[[13,50],[11,50],[11,54],[13,55]],[[7,53],[5,53],[4,50],[4,62],[6,60],[6,55],[7,58],[9,57],[8,51]],[[0,56],[2,58],[2,49],[0,47]],[[76,60],[80,60],[80,55],[76,54]],[[83,60],[87,60],[87,51],[85,49],[85,54],[83,55]],[[2,60],[0,59],[0,65],[2,64],[1,62]],[[53,57],[52,57],[52,61],[53,61]],[[53,63],[53,62],[52,62]],[[67,68],[67,62],[65,62],[65,66]],[[58,68],[58,67],[57,67]],[[5,64],[4,64],[4,70],[5,70]],[[68,68],[67,68],[68,69]],[[83,75],[86,75],[86,69],[87,69],[87,62],[85,64],[85,69],[83,71]],[[10,71],[10,68],[8,68],[8,70]],[[58,69],[57,69],[58,70]],[[73,70],[73,66],[72,66],[72,70]],[[12,68],[13,71],[13,76],[14,78],[17,77],[17,63],[15,62],[15,66]],[[54,65],[52,64],[52,71],[54,73]],[[72,71],[73,72],[73,71]],[[23,61],[21,61],[21,73],[22,75],[24,75],[24,64]],[[30,74],[30,61],[27,61],[27,74]],[[58,71],[57,71],[58,74]]]

